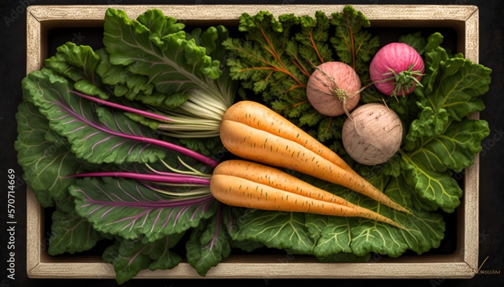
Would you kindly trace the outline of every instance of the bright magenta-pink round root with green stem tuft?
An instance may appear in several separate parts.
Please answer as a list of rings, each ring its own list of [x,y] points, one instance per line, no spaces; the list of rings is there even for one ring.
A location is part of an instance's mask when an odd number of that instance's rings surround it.
[[[411,46],[390,43],[374,55],[369,76],[376,88],[394,97],[412,92],[420,83],[424,71],[423,59]]]

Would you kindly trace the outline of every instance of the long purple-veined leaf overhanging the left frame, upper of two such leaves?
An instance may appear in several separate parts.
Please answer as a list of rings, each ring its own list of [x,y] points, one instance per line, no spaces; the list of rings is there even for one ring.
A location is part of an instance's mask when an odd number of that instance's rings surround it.
[[[87,162],[154,162],[166,151],[152,145],[152,131],[104,107],[78,97],[71,83],[49,69],[23,79],[23,93],[48,120],[51,129],[68,138],[72,152]]]

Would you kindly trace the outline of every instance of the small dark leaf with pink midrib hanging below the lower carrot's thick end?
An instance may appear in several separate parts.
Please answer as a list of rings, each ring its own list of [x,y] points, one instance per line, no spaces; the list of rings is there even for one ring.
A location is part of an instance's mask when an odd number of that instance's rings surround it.
[[[205,276],[211,267],[217,264],[231,252],[229,234],[222,220],[222,207],[217,214],[200,227],[193,230],[185,244],[186,258],[198,274]]]

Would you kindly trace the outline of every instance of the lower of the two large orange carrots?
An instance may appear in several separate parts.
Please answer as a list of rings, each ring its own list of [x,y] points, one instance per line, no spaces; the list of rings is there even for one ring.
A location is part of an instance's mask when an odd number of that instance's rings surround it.
[[[259,163],[243,160],[220,163],[210,179],[210,190],[217,200],[231,206],[363,217],[404,229],[383,215]]]

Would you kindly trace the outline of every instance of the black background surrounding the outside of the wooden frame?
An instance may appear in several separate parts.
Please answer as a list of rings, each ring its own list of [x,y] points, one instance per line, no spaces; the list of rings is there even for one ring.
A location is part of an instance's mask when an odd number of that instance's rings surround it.
[[[268,1],[44,1],[44,0],[16,0],[0,1],[0,193],[5,194],[0,197],[0,286],[116,286],[114,279],[29,279],[26,276],[26,186],[21,186],[16,190],[16,279],[7,278],[6,260],[7,257],[7,234],[5,226],[7,215],[7,170],[13,168],[19,176],[22,174],[21,167],[16,161],[14,141],[16,139],[15,113],[17,106],[21,102],[21,79],[26,75],[26,12],[21,13],[19,18],[9,23],[5,22],[5,17],[11,17],[11,9],[16,9],[20,5],[30,3],[30,5],[88,5],[88,4],[444,4],[444,5],[476,5],[479,7],[479,62],[490,67],[492,72],[492,83],[490,90],[483,96],[486,109],[480,113],[480,118],[488,121],[490,126],[490,136],[483,140],[486,152],[480,157],[480,197],[479,197],[479,264],[485,258],[482,270],[502,269],[502,233],[504,211],[504,160],[503,152],[504,132],[501,116],[504,113],[502,104],[502,82],[504,77],[504,2],[493,1],[471,1],[471,0],[451,0],[451,1],[300,1],[300,0],[268,0]],[[57,33],[56,33],[57,32]],[[56,31],[52,34],[54,43],[58,41],[60,35],[73,31]],[[78,32],[78,31],[76,31]],[[68,41],[68,38],[66,40]],[[61,43],[62,44],[62,43]],[[56,45],[56,44],[54,44]],[[57,44],[59,45],[59,44]],[[54,46],[55,47],[55,46]],[[51,46],[51,49],[54,48]],[[50,54],[54,53],[50,50]],[[490,139],[495,139],[494,142]],[[490,146],[493,143],[494,146]],[[3,183],[2,183],[3,182]],[[455,230],[447,230],[447,233]],[[451,234],[447,234],[450,237]],[[12,251],[12,250],[11,250]],[[496,286],[504,283],[503,274],[477,274],[472,279],[162,279],[162,280],[130,280],[123,286],[137,286],[149,284],[150,286],[205,286],[205,285],[240,285],[240,286],[388,286],[391,284],[399,286]]]

